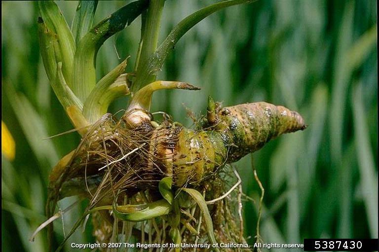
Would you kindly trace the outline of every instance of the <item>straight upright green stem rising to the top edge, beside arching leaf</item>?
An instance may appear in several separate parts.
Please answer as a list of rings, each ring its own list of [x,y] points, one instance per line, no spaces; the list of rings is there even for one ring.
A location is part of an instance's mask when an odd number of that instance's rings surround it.
[[[141,68],[142,65],[146,64],[146,62],[149,61],[149,58],[152,56],[157,47],[163,5],[164,0],[151,0],[148,12],[146,14],[146,21],[144,22],[145,29],[142,33],[143,38],[141,38],[142,47],[141,54],[138,59],[136,77],[136,79],[139,79],[141,77],[146,78],[146,83],[144,83],[144,85],[147,85],[155,80],[155,77],[153,75],[150,75],[149,73],[147,73],[147,75],[149,76],[140,76],[138,70]],[[132,93],[135,93],[141,87],[141,85],[133,85]]]

